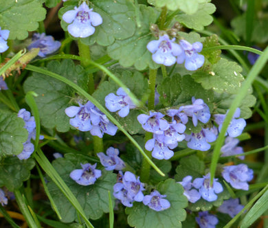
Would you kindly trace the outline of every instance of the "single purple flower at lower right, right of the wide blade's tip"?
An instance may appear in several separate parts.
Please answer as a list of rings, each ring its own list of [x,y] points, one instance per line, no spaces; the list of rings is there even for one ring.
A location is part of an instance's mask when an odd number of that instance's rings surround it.
[[[253,170],[245,164],[237,166],[225,166],[221,172],[225,181],[237,190],[249,190],[247,181],[253,179]]]

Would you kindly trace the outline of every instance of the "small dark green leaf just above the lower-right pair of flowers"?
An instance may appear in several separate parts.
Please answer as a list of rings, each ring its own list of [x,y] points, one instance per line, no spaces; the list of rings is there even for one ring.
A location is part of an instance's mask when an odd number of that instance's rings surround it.
[[[204,174],[205,163],[196,155],[183,157],[179,163],[180,165],[176,168],[176,181],[182,181],[182,179],[186,176],[192,176],[193,179],[196,179]]]

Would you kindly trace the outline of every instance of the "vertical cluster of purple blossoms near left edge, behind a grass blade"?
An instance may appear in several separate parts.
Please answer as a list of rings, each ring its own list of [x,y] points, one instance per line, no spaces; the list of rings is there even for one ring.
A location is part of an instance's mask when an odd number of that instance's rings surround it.
[[[23,143],[23,151],[16,155],[20,160],[28,159],[32,152],[34,152],[34,144],[32,144],[31,139],[35,140],[36,136],[36,124],[34,117],[31,116],[31,113],[29,111],[26,111],[26,109],[21,109],[18,113],[18,117],[22,118],[25,122],[24,128],[28,132],[28,138],[25,143]],[[39,139],[44,139],[43,135],[40,135]]]

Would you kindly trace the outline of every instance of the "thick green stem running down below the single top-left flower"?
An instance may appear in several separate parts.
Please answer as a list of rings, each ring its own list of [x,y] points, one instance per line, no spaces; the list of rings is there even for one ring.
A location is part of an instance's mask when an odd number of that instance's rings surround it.
[[[90,65],[90,50],[89,50],[89,46],[83,44],[80,40],[78,41],[78,49],[79,49],[79,55],[81,57],[80,63],[82,65],[82,67],[87,68]],[[93,74],[89,73],[89,83],[88,83],[88,90],[89,90],[89,94],[91,95],[94,90],[94,78],[93,78]],[[104,152],[103,150],[103,141],[101,138],[99,138],[98,136],[93,136],[93,148],[94,148],[94,152],[98,153],[98,152]]]

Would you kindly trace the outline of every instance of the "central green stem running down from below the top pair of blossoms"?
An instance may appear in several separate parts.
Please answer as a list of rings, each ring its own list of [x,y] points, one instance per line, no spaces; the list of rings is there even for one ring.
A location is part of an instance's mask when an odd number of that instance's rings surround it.
[[[148,110],[153,110],[155,109],[155,80],[156,80],[156,76],[157,76],[157,69],[150,69],[150,73],[149,73],[149,89],[150,89],[150,95],[148,98]],[[145,133],[145,142],[148,141],[149,139],[151,139],[153,137],[152,133]],[[148,150],[144,150],[144,152],[146,153],[146,155],[151,158],[151,152]],[[143,159],[142,161],[142,170],[141,170],[141,180],[143,182],[148,182],[150,176],[150,164],[148,163],[148,161],[146,161],[146,159]]]

